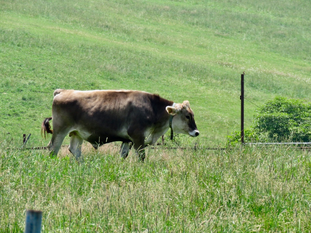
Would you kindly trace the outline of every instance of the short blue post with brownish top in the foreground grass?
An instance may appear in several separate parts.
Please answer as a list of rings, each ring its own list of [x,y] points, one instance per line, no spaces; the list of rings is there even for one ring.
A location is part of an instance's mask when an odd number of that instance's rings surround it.
[[[24,233],[40,233],[42,222],[41,210],[26,210],[26,225]]]

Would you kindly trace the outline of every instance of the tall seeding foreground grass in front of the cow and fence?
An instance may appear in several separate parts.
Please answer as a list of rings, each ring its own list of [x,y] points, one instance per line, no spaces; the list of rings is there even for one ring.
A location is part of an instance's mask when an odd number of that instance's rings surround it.
[[[156,148],[142,163],[117,145],[78,163],[8,147],[3,136],[0,232],[22,232],[25,208],[43,211],[42,232],[311,230],[308,150]]]

